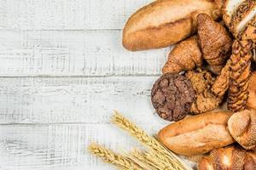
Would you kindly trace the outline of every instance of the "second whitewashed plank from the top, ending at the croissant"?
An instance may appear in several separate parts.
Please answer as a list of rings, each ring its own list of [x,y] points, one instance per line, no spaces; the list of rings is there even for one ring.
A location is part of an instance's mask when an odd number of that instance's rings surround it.
[[[159,75],[170,48],[129,52],[121,31],[0,31],[0,76]]]

